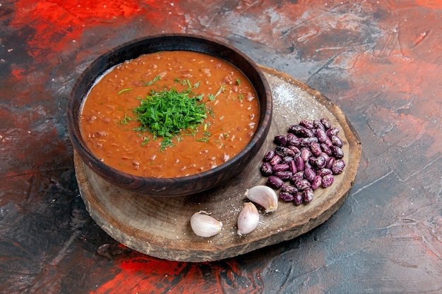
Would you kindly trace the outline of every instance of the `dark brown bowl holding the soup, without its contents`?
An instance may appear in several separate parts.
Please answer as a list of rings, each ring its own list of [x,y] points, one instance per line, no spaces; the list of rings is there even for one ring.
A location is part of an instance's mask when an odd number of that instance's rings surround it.
[[[260,120],[258,128],[249,145],[236,157],[225,164],[209,171],[203,171],[191,176],[179,178],[148,178],[134,176],[113,169],[104,164],[90,152],[80,134],[80,111],[85,99],[95,80],[112,66],[129,59],[135,59],[141,54],[155,53],[157,51],[186,50],[215,56],[236,66],[255,87],[260,102]],[[257,154],[263,145],[270,128],[272,119],[272,97],[270,87],[263,73],[256,63],[237,49],[223,44],[214,39],[198,37],[195,35],[172,34],[157,35],[136,39],[132,42],[110,50],[93,61],[80,75],[73,86],[68,100],[67,125],[68,133],[74,149],[80,158],[99,176],[120,188],[150,196],[182,196],[202,192],[225,182],[241,172],[246,164]]]

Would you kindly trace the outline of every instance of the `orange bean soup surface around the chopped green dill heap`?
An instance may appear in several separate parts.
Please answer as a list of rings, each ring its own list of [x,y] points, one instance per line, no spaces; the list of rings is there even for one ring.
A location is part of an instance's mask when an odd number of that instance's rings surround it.
[[[133,110],[151,91],[202,95],[203,123],[182,130],[172,145],[134,130]],[[241,71],[221,59],[192,51],[160,51],[115,66],[95,83],[83,103],[80,130],[104,163],[137,176],[174,178],[220,166],[241,152],[259,119],[256,92]]]

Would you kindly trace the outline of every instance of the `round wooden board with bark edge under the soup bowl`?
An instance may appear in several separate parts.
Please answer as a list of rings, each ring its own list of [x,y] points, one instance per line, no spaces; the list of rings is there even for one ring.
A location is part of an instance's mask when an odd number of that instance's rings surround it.
[[[273,121],[268,139],[244,172],[219,187],[186,197],[148,197],[121,190],[93,173],[74,152],[80,195],[92,219],[115,240],[146,255],[184,262],[235,257],[261,247],[296,238],[334,214],[347,199],[359,166],[361,145],[342,111],[304,83],[272,68],[261,67],[273,95]],[[295,206],[279,203],[270,214],[260,212],[258,228],[237,235],[237,216],[244,192],[265,184],[259,168],[265,152],[274,149],[273,137],[287,134],[301,119],[327,118],[340,129],[347,164],[329,188],[314,191],[313,201]],[[222,221],[220,234],[198,237],[191,230],[192,214],[204,210]]]

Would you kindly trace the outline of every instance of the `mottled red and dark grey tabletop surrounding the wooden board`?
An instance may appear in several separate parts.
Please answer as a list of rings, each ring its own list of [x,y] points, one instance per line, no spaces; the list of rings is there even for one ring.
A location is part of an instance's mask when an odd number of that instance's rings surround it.
[[[1,293],[442,293],[442,4],[407,1],[2,1]],[[119,245],[80,198],[66,104],[100,54],[160,32],[207,35],[320,91],[362,159],[309,233],[218,262]]]

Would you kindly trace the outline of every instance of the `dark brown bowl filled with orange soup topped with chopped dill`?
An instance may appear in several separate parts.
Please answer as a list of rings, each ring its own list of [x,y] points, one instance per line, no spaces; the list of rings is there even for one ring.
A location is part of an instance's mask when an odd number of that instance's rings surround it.
[[[263,145],[270,87],[241,51],[187,34],[135,39],[98,57],[68,100],[73,147],[92,171],[150,196],[203,192]]]

